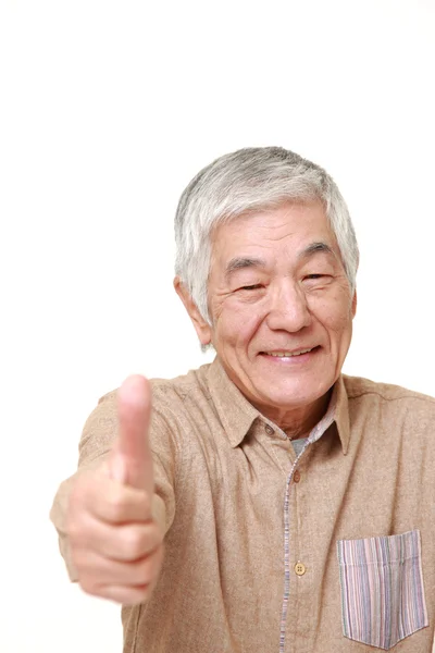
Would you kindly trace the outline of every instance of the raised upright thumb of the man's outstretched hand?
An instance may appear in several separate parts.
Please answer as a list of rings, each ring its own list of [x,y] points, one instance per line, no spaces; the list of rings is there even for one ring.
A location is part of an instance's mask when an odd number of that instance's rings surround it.
[[[117,391],[120,433],[109,459],[110,476],[150,495],[154,490],[148,431],[151,387],[145,377],[128,377]]]

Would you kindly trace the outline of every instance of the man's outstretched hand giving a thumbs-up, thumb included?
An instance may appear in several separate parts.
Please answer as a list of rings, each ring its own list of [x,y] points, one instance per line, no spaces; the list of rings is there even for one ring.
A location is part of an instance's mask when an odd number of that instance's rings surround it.
[[[163,533],[151,513],[148,381],[128,377],[117,402],[119,439],[100,468],[77,477],[66,531],[85,592],[133,605],[149,599],[163,559]]]

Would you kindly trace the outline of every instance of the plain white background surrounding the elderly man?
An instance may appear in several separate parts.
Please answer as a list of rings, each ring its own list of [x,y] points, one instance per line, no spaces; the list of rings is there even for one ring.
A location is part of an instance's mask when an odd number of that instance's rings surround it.
[[[204,358],[173,215],[215,157],[324,165],[361,248],[344,371],[435,395],[431,1],[0,0],[0,651],[120,653],[48,520],[98,397]]]

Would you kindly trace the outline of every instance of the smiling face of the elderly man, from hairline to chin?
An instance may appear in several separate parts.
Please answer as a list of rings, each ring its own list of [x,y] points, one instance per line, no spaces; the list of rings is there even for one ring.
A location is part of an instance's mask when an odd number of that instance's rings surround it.
[[[356,298],[321,202],[220,225],[208,289],[212,325],[201,340],[256,407],[303,409],[327,393],[349,348]]]

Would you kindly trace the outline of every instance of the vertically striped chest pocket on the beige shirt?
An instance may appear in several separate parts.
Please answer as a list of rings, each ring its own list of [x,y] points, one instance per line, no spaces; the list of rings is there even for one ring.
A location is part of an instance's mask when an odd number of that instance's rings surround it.
[[[345,637],[384,649],[428,625],[420,531],[338,540]]]

